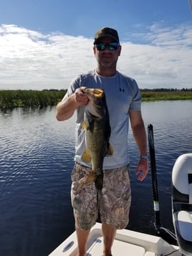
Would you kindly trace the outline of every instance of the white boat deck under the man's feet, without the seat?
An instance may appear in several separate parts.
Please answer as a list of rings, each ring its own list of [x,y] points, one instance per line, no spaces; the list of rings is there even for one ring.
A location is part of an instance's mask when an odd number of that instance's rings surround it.
[[[102,253],[102,229],[101,224],[97,223],[90,232],[87,242],[87,256],[101,256]],[[71,246],[71,247],[69,247]],[[68,249],[65,250],[64,249]],[[174,252],[171,254],[171,252]],[[181,256],[179,248],[170,245],[160,237],[150,234],[134,232],[128,229],[117,230],[114,244],[112,245],[112,256]],[[77,238],[75,232],[67,240],[64,240],[49,256],[76,256]]]

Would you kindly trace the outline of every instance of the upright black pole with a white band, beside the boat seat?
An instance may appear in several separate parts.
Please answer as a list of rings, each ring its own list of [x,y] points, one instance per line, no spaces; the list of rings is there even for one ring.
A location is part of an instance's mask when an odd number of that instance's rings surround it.
[[[160,209],[158,201],[158,181],[157,181],[157,172],[156,172],[156,163],[155,163],[155,143],[153,138],[153,125],[148,125],[148,146],[149,146],[149,155],[150,155],[150,171],[151,171],[151,180],[152,180],[152,189],[153,189],[153,206],[155,212],[155,229],[156,232],[159,232],[161,227],[160,224]]]

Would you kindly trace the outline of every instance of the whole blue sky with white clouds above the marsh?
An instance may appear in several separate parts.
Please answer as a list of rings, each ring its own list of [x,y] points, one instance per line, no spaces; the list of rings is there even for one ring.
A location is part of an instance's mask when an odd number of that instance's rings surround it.
[[[192,0],[0,0],[0,90],[67,89],[117,29],[117,70],[141,89],[192,88]]]

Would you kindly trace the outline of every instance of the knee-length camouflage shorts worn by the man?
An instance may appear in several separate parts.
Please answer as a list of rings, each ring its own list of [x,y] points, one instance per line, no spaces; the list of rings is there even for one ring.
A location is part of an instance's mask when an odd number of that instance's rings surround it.
[[[85,184],[91,169],[75,163],[72,171],[72,207],[75,224],[80,229],[90,229],[100,219],[116,229],[128,225],[130,212],[129,166],[104,170],[103,188],[97,191],[95,183]]]

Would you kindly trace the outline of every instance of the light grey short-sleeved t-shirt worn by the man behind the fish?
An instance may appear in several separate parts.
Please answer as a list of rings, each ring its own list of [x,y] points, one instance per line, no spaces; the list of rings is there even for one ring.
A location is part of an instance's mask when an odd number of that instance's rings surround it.
[[[72,95],[78,87],[102,88],[105,91],[107,108],[110,115],[110,144],[113,148],[112,156],[105,156],[103,169],[114,169],[126,166],[128,156],[128,129],[129,110],[140,111],[141,94],[137,82],[120,72],[112,77],[102,77],[95,70],[84,75],[78,75],[72,81],[64,99]],[[64,100],[63,99],[63,100]],[[77,108],[75,129],[75,161],[84,166],[91,167],[91,163],[82,161],[81,156],[85,151],[85,131],[81,124],[84,120],[85,106]]]

